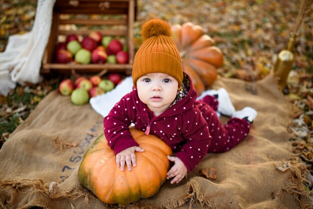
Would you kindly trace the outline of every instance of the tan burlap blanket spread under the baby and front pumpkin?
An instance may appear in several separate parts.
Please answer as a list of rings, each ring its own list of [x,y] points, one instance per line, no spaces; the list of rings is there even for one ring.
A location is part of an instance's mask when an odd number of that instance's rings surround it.
[[[213,87],[224,87],[236,109],[257,110],[249,135],[228,152],[208,153],[181,183],[166,181],[156,195],[128,207],[310,207],[301,182],[305,167],[290,161],[289,107],[272,76],[255,83],[220,78]],[[69,97],[51,92],[0,149],[0,206],[118,206],[101,202],[77,178],[84,152],[100,133],[102,117],[89,104],[73,106]],[[287,161],[284,172],[277,169]],[[217,178],[199,174],[202,168],[215,168]]]

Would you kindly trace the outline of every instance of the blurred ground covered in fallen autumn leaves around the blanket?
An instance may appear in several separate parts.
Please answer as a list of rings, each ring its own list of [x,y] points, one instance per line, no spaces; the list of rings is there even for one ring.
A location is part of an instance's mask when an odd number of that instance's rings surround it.
[[[219,74],[255,81],[266,76],[277,53],[286,47],[294,29],[299,0],[137,0],[135,40],[149,18],[170,24],[190,21],[201,25],[224,54]],[[31,30],[36,0],[4,0],[0,4],[0,51],[8,36]],[[313,5],[304,15],[293,48],[295,61],[283,92],[293,108],[288,126],[292,150],[313,173]],[[0,146],[36,104],[62,79],[17,86],[0,96]],[[310,188],[311,189],[311,188]]]

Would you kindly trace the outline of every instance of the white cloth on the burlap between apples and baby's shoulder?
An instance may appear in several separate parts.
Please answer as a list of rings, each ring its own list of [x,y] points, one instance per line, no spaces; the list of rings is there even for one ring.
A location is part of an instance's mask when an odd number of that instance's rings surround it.
[[[105,117],[114,104],[119,101],[126,93],[132,90],[132,86],[132,77],[128,76],[118,85],[116,85],[113,90],[90,98],[89,103],[91,104],[91,107],[94,111],[96,111],[102,117]],[[198,96],[198,99],[202,98],[203,96],[204,95],[201,94]],[[220,116],[219,112],[216,112],[216,114],[218,117]]]

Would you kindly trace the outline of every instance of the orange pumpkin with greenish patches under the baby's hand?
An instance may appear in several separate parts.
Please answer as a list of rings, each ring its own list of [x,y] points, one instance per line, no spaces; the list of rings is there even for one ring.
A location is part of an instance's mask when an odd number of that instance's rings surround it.
[[[169,167],[167,155],[172,151],[155,135],[130,128],[130,132],[144,149],[135,152],[136,166],[121,171],[116,166],[114,151],[100,135],[84,154],[78,169],[80,183],[107,204],[127,205],[139,198],[154,195],[166,180]]]

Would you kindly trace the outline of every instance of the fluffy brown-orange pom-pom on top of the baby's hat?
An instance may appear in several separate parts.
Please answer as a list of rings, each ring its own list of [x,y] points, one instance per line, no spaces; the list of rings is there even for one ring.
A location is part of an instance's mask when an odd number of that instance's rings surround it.
[[[164,20],[151,19],[150,21],[147,21],[143,24],[141,35],[143,40],[158,35],[170,36],[171,30],[169,24]]]

